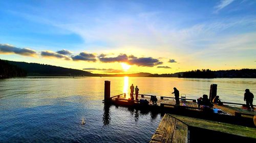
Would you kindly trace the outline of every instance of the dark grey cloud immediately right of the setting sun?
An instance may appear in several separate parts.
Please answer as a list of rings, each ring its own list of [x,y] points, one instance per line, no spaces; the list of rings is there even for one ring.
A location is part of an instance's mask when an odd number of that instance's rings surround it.
[[[142,67],[154,67],[156,65],[161,65],[163,62],[160,62],[158,59],[153,59],[152,57],[148,58],[136,58],[127,61],[130,65],[137,65]]]

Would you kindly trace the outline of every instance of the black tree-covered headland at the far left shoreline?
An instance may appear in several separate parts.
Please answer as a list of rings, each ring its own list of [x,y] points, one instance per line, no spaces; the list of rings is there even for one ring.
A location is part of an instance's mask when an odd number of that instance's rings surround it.
[[[27,72],[0,59],[0,78],[27,76]]]

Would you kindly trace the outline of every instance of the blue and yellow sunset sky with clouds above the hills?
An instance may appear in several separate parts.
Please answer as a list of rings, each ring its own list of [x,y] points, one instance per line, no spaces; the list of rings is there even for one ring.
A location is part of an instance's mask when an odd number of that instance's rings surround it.
[[[92,73],[256,68],[256,1],[0,1],[0,59]]]

